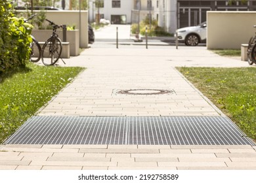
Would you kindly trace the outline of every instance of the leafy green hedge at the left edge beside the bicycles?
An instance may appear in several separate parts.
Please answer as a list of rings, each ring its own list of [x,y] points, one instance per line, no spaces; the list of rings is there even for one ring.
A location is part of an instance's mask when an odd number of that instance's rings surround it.
[[[0,1],[0,73],[17,65],[25,65],[30,56],[32,26],[12,14],[7,0]]]

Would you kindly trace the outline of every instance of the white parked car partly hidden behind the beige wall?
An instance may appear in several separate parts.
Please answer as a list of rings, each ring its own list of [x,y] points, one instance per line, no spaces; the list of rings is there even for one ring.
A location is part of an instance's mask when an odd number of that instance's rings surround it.
[[[177,29],[179,42],[185,42],[187,46],[196,46],[202,41],[206,41],[207,24],[203,22],[198,26],[184,27]]]

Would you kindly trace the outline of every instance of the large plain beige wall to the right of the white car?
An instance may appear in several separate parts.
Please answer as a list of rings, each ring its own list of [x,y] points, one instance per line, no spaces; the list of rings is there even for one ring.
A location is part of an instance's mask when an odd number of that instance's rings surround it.
[[[256,12],[208,11],[207,49],[240,49],[255,35]]]

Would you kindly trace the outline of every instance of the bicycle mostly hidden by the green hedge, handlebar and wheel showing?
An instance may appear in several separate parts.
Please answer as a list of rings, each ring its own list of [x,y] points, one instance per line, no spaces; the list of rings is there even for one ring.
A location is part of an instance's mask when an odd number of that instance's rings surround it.
[[[32,20],[32,18],[36,15],[37,14],[32,14],[32,16],[30,16],[27,20],[24,20],[24,22],[28,23],[28,21]],[[41,46],[35,37],[33,37],[33,35],[30,36],[32,37],[32,42],[30,43],[30,61],[37,62],[41,59]]]

